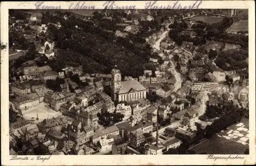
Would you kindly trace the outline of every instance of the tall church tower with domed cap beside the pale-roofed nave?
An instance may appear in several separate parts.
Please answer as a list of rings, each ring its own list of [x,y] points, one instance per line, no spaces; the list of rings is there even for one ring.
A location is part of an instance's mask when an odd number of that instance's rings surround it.
[[[121,72],[117,69],[117,65],[111,71],[111,91],[112,91],[112,100],[116,101],[118,99],[117,92],[121,88]]]

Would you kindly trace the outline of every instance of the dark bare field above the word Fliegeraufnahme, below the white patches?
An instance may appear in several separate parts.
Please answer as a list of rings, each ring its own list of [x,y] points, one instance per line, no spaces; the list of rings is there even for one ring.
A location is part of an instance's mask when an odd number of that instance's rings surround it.
[[[214,136],[194,146],[190,150],[194,150],[196,154],[244,154],[246,148],[248,146]]]

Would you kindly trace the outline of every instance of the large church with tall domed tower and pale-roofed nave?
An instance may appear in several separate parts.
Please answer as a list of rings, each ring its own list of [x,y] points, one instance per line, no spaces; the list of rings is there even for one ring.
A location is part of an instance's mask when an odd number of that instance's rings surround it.
[[[121,81],[121,72],[117,66],[111,71],[112,100],[133,101],[146,98],[146,89],[137,80]]]

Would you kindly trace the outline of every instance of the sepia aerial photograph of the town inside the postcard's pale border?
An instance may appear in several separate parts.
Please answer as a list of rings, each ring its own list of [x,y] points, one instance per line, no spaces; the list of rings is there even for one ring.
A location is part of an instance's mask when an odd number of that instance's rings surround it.
[[[249,154],[247,9],[9,9],[10,155]]]

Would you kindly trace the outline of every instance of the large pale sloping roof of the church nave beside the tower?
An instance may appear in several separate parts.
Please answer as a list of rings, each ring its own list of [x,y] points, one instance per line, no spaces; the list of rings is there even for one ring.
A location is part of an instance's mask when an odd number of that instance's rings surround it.
[[[144,91],[146,90],[145,87],[143,87],[140,82],[137,80],[128,80],[128,81],[122,81],[122,87],[120,91],[118,92],[119,94],[122,93],[128,93],[131,89],[134,89],[135,91]]]

